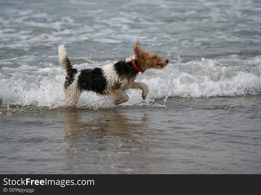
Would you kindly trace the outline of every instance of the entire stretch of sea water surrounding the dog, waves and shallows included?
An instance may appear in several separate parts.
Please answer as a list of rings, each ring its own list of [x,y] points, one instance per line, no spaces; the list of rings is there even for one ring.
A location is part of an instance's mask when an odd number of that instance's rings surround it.
[[[0,173],[261,173],[260,10],[235,0],[0,2]],[[119,106],[83,93],[65,107],[58,45],[81,69],[133,55],[138,39],[180,57],[138,76],[145,101],[138,90]]]

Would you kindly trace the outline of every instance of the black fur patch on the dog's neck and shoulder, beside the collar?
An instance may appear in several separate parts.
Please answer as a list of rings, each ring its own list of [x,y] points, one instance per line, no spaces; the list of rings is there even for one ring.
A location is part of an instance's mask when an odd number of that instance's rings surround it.
[[[135,61],[135,63],[138,66],[138,62]],[[135,79],[139,74],[139,71],[133,66],[133,64],[130,61],[126,62],[125,59],[117,61],[114,64],[114,70],[120,77],[124,77],[127,80]]]

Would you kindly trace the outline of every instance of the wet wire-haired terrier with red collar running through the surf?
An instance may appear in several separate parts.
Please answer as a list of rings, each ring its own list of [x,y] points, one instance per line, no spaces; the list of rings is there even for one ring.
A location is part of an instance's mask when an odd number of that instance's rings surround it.
[[[139,72],[144,73],[147,69],[163,69],[167,66],[168,59],[142,50],[139,41],[133,51],[133,56],[114,61],[102,68],[77,70],[71,65],[65,46],[61,44],[58,47],[58,56],[60,65],[66,70],[63,91],[69,106],[75,106],[84,91],[93,91],[99,96],[112,96],[114,104],[118,105],[129,100],[125,91],[139,88],[145,100],[149,87],[145,83],[135,82],[136,77]]]

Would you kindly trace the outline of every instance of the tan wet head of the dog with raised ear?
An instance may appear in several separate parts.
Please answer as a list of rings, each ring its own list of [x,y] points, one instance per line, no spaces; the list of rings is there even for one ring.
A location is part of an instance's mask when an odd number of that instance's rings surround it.
[[[136,61],[138,61],[141,69],[163,69],[168,64],[168,59],[157,56],[157,53],[145,51],[141,49],[139,41],[134,47]]]

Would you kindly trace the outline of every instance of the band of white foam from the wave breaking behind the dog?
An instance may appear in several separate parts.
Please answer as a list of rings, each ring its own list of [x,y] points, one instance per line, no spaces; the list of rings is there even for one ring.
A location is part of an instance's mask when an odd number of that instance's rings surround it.
[[[193,59],[181,63],[175,74],[169,91],[169,97],[212,97],[244,96],[261,93],[260,56],[240,59],[236,56],[217,59]],[[232,63],[228,66],[226,62]],[[90,68],[97,62],[76,64],[75,67]],[[108,63],[100,62],[100,66]],[[236,66],[235,64],[241,64]],[[245,65],[242,65],[245,64]],[[34,105],[37,107],[59,107],[65,105],[63,81],[65,71],[52,63],[33,66],[33,71],[26,71],[28,65],[3,67],[0,77],[1,107],[10,105]],[[137,81],[147,83],[150,93],[144,101],[140,90],[130,90],[129,101],[121,106],[161,106],[155,99],[165,98],[176,64],[168,64],[163,70],[147,70],[140,74]],[[31,67],[32,68],[32,67]],[[7,76],[8,75],[8,76]],[[78,107],[113,108],[112,99],[101,98],[94,93],[83,93]]]

